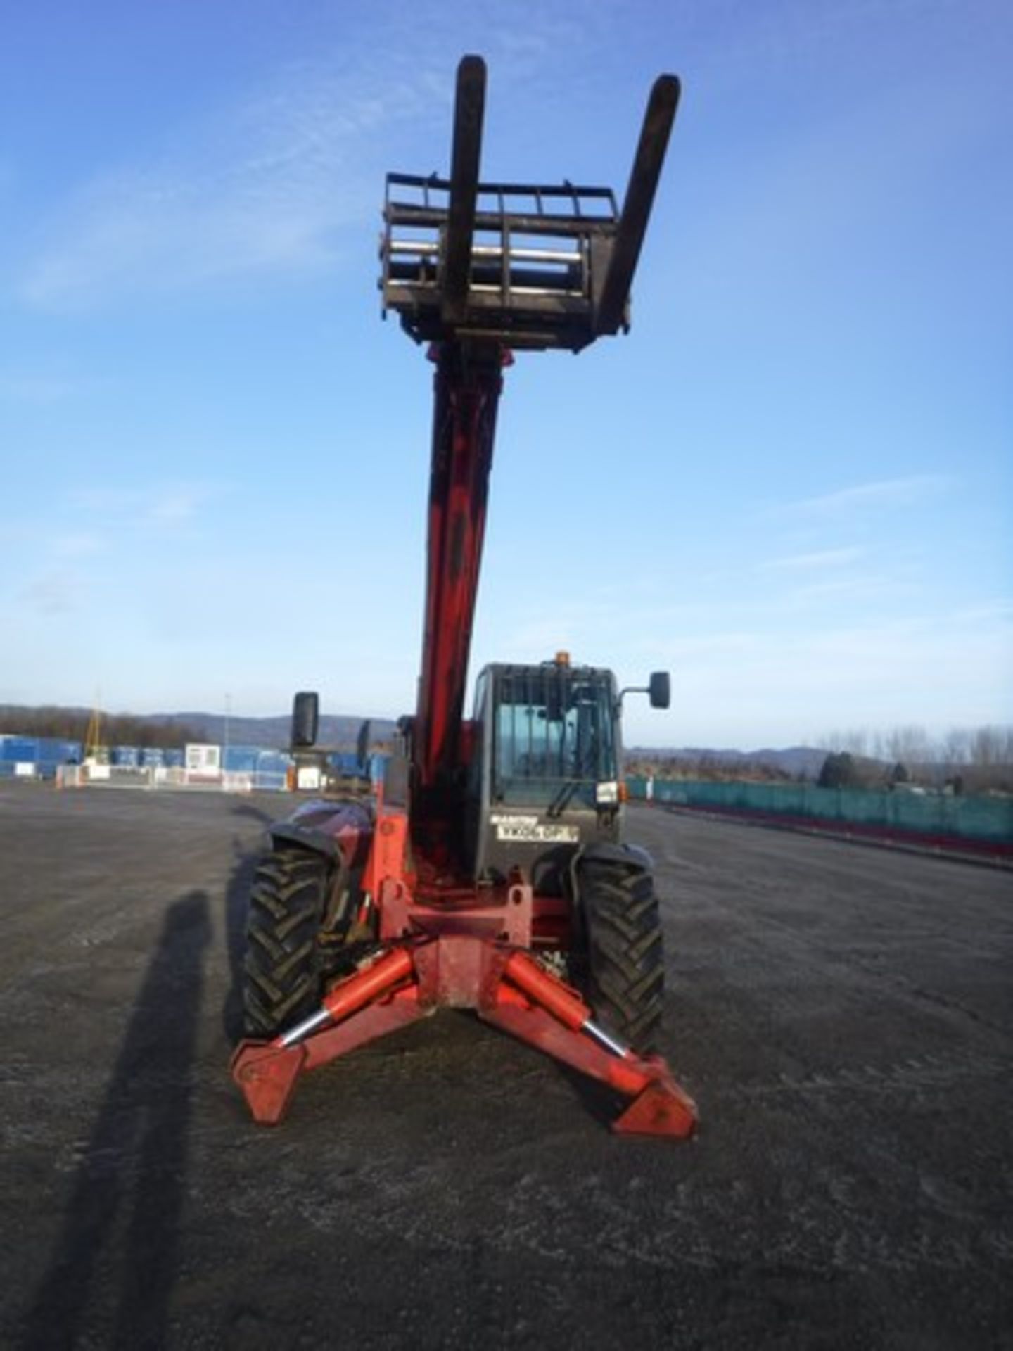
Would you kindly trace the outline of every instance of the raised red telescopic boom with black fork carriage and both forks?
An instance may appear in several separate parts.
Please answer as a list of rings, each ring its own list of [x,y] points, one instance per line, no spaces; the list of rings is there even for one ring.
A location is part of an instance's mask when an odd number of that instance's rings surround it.
[[[423,794],[462,763],[461,727],[501,370],[515,349],[581,351],[629,327],[629,286],[679,81],[659,76],[623,211],[608,188],[481,182],[485,62],[457,74],[450,178],[388,174],[384,308],[436,362],[425,626],[412,767]],[[475,242],[477,238],[481,242]]]

